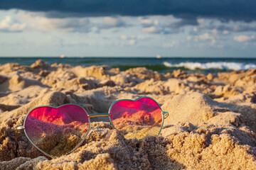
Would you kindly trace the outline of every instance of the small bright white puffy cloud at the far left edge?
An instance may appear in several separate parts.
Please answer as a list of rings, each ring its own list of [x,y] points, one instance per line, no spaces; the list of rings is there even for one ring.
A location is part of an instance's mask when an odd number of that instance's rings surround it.
[[[26,23],[20,23],[11,16],[6,16],[4,20],[0,22],[0,31],[3,32],[21,32],[26,28]]]

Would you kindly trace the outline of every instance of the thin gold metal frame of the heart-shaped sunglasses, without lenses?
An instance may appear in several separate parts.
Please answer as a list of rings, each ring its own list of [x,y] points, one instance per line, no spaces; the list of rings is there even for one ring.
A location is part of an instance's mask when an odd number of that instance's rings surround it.
[[[143,96],[143,97],[140,97],[140,98],[150,98],[150,99],[152,99],[153,101],[155,101],[154,98],[151,98],[151,97],[148,97],[148,96]],[[70,154],[70,153],[74,152],[75,149],[78,149],[78,147],[80,147],[80,145],[82,144],[82,142],[85,141],[85,138],[90,135],[90,132],[92,132],[92,130],[90,129],[90,118],[94,118],[94,117],[108,117],[112,129],[116,129],[116,128],[114,128],[114,125],[113,125],[112,120],[111,120],[111,118],[110,118],[110,117],[111,117],[110,111],[111,111],[112,106],[114,106],[114,104],[117,103],[117,102],[119,102],[119,101],[138,101],[140,98],[137,98],[137,99],[135,99],[135,100],[132,100],[132,99],[121,99],[121,100],[118,100],[118,101],[114,101],[114,103],[112,103],[112,105],[110,106],[110,109],[109,109],[108,113],[99,113],[99,114],[93,114],[93,115],[88,115],[88,113],[87,113],[87,111],[85,110],[85,108],[83,108],[82,106],[80,106],[80,105],[78,105],[78,104],[74,104],[74,103],[63,104],[63,105],[58,106],[58,107],[53,107],[53,106],[38,106],[38,107],[36,107],[36,108],[41,108],[41,107],[61,108],[61,107],[63,107],[63,106],[67,106],[67,105],[73,105],[73,106],[78,106],[78,107],[82,108],[82,110],[85,111],[85,113],[86,113],[86,115],[87,115],[87,117],[88,117],[88,120],[89,120],[89,127],[88,127],[88,130],[87,130],[87,132],[86,132],[86,134],[85,134],[85,137],[81,140],[81,142],[80,142],[74,149],[72,149],[70,152],[67,153],[67,154]],[[159,106],[159,103],[157,103],[157,101],[155,101],[155,102],[156,102],[156,104]],[[36,109],[36,108],[32,108],[31,111],[33,111],[33,110]],[[166,119],[166,118],[169,116],[169,113],[168,113],[168,112],[164,112],[164,111],[162,110],[161,106],[159,106],[159,108],[161,109],[161,114],[162,114],[162,125],[161,125],[161,129],[159,130],[159,133],[158,133],[158,135],[157,135],[156,137],[159,136],[159,134],[160,134],[160,132],[161,132],[163,126],[164,126],[164,119]],[[16,128],[16,140],[15,140],[15,142],[16,142],[16,148],[15,148],[15,157],[17,157],[17,154],[18,154],[18,152],[17,152],[17,150],[18,150],[18,142],[17,142],[17,140],[18,140],[18,134],[19,134],[19,131],[20,131],[20,130],[24,130],[24,133],[25,133],[26,137],[28,138],[28,141],[31,142],[31,144],[32,144],[34,147],[36,147],[36,149],[38,149],[38,150],[39,150],[40,152],[42,152],[43,154],[46,154],[46,156],[55,159],[56,157],[53,157],[52,155],[47,154],[46,152],[44,152],[42,149],[40,149],[39,147],[37,147],[37,146],[31,141],[31,139],[28,137],[28,135],[27,135],[27,133],[26,133],[25,123],[26,123],[26,119],[28,118],[28,115],[31,113],[31,111],[29,111],[28,114],[26,115],[26,118],[25,118],[25,120],[24,120],[23,125],[18,126],[18,128]],[[125,137],[124,137],[124,139],[125,139]],[[65,154],[65,155],[67,155],[67,154]]]

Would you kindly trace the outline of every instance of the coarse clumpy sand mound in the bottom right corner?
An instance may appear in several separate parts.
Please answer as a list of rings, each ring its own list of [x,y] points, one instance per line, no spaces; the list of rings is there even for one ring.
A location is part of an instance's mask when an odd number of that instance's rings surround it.
[[[199,128],[170,135],[167,154],[186,169],[255,169],[255,154],[226,132],[217,135]],[[223,130],[224,131],[224,130]]]

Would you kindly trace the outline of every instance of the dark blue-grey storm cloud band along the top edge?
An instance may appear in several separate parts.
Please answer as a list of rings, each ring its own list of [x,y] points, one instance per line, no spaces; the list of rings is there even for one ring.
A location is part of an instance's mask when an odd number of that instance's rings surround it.
[[[0,0],[0,9],[46,11],[52,17],[147,16],[209,17],[223,21],[256,20],[256,0]],[[189,20],[190,20],[189,19]]]

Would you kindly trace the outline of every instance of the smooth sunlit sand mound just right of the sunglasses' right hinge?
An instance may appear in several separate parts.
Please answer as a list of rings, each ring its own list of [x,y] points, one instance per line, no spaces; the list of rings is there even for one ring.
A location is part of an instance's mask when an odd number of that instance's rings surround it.
[[[167,125],[190,122],[193,125],[210,123],[238,126],[242,121],[240,113],[233,113],[206,94],[196,92],[174,96],[165,101],[162,108],[169,112],[169,118],[165,120]]]

